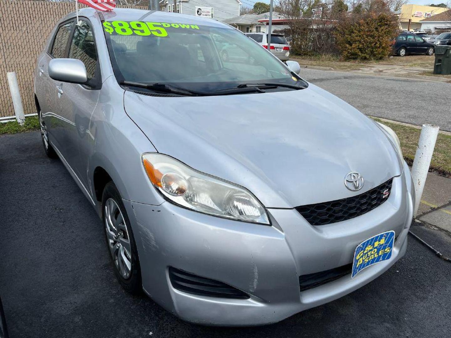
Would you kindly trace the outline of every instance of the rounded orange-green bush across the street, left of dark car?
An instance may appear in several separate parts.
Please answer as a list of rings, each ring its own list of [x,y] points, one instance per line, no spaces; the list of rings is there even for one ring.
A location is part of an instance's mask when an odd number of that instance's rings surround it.
[[[370,13],[355,21],[343,20],[335,37],[343,59],[379,60],[391,55],[398,32],[396,17]]]

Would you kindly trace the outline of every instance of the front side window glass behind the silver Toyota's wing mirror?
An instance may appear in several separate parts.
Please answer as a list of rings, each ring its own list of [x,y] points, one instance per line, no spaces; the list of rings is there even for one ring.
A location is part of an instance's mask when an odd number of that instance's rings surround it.
[[[70,43],[69,58],[83,61],[88,81],[95,77],[97,52],[94,35],[86,21],[75,27],[74,37]]]

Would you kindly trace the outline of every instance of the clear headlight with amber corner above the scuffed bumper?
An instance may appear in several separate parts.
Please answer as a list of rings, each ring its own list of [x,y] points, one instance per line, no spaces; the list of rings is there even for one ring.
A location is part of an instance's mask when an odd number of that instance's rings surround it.
[[[204,214],[270,224],[265,208],[244,187],[203,174],[168,155],[142,156],[147,176],[166,200]]]

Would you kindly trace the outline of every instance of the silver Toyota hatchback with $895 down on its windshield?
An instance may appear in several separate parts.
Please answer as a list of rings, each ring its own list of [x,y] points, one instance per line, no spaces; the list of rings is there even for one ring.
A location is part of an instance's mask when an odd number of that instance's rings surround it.
[[[391,129],[226,24],[79,19],[37,59],[42,142],[103,219],[126,290],[196,323],[268,324],[404,255],[414,190]]]

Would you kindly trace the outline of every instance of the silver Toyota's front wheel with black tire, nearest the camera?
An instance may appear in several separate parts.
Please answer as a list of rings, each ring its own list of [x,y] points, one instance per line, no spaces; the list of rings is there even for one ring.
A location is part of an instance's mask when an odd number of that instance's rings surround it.
[[[111,181],[103,190],[102,219],[116,278],[126,291],[141,293],[141,269],[130,220],[119,191]]]

